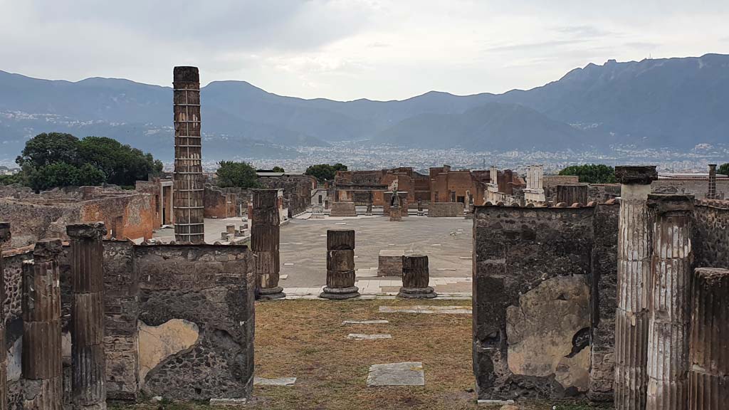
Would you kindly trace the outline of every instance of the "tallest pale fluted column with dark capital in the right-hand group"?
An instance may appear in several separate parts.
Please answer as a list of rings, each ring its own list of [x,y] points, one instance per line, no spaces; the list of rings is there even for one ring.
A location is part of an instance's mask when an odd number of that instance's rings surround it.
[[[615,312],[615,410],[645,409],[652,223],[647,208],[655,166],[618,166],[620,220]]]

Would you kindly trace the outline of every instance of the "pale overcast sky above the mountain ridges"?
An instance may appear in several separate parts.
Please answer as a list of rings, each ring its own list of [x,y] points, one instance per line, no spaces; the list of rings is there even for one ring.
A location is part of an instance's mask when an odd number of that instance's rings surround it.
[[[176,8],[172,4],[176,5]],[[588,63],[729,53],[727,0],[0,0],[0,70],[286,96],[502,93]]]

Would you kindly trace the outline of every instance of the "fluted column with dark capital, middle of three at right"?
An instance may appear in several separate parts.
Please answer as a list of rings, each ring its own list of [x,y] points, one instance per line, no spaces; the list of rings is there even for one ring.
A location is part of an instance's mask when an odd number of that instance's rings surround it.
[[[693,196],[648,196],[655,214],[648,324],[649,410],[685,410],[691,319]]]

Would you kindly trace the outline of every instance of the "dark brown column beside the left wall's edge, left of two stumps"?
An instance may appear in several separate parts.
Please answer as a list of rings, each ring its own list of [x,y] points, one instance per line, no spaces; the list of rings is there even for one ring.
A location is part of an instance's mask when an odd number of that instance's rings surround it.
[[[254,190],[251,250],[257,295],[263,301],[286,297],[284,288],[278,286],[278,274],[281,271],[278,261],[280,225],[278,190]]]

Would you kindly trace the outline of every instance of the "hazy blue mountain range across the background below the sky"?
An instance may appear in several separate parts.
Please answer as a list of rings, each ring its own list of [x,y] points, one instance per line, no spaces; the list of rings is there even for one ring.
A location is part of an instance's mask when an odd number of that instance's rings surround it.
[[[242,81],[201,90],[208,159],[294,155],[286,147],[361,141],[467,150],[685,150],[729,144],[729,55],[607,61],[531,90],[402,101],[278,96]],[[111,136],[172,155],[172,90],[130,80],[39,80],[0,71],[0,159],[47,131]]]

